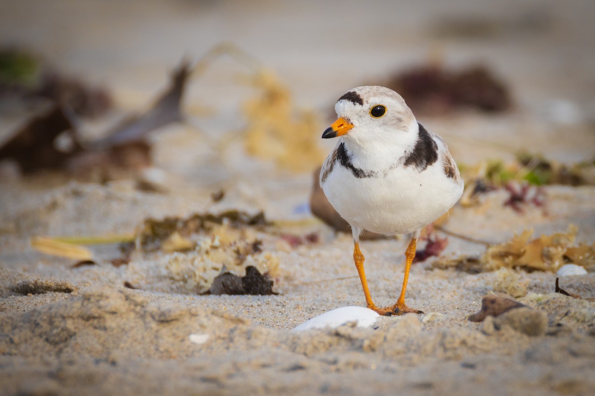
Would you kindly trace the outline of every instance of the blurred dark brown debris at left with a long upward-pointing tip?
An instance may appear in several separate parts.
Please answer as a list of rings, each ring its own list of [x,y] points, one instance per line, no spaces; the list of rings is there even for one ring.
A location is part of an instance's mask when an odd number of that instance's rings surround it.
[[[104,179],[109,179],[116,169],[148,167],[152,163],[152,146],[147,135],[183,120],[180,102],[189,72],[190,66],[182,62],[173,73],[170,87],[151,109],[129,116],[108,132],[107,137],[97,141],[81,141],[76,112],[63,103],[67,100],[59,100],[49,110],[33,116],[0,146],[0,160],[14,160],[25,173],[67,169],[84,175],[99,169]]]

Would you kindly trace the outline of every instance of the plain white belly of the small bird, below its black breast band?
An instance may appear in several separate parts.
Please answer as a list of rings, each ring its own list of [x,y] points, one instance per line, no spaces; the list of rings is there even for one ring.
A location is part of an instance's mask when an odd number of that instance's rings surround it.
[[[362,179],[335,166],[322,188],[352,227],[382,234],[406,234],[427,226],[452,208],[463,192],[441,166],[421,173],[400,167],[385,178]]]

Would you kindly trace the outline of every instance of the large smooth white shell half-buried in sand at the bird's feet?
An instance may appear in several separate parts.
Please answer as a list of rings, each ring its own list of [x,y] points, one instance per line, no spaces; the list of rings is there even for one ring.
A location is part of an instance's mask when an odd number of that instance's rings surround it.
[[[325,327],[335,328],[348,322],[357,322],[358,327],[370,327],[376,322],[378,313],[361,306],[344,306],[318,315],[309,321],[303,322],[292,331],[320,329]]]

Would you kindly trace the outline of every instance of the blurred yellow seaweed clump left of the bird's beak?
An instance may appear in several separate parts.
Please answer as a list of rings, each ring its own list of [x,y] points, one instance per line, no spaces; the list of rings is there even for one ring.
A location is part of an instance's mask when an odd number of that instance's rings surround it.
[[[243,104],[246,151],[284,169],[309,171],[324,159],[318,147],[319,122],[312,110],[296,110],[292,95],[277,76],[259,69],[249,80],[260,93]]]

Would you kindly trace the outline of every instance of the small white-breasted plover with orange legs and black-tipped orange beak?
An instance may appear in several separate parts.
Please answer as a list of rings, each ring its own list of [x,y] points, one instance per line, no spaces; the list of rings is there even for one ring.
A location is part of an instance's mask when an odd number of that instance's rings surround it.
[[[367,308],[384,316],[423,313],[405,304],[409,270],[421,230],[461,198],[464,182],[446,143],[417,121],[405,100],[378,85],[356,87],[337,100],[339,117],[322,138],[339,138],[320,172],[320,186],[351,226],[353,261]],[[359,249],[362,230],[408,234],[399,299],[372,301]]]

